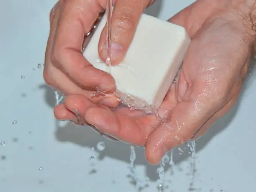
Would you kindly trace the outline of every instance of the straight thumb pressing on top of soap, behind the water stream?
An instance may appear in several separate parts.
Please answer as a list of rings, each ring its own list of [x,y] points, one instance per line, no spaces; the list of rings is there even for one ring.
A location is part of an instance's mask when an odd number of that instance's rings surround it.
[[[150,0],[116,0],[111,20],[111,64],[118,64],[123,60],[128,50],[139,19]],[[101,33],[99,53],[105,61],[107,52],[106,28]]]

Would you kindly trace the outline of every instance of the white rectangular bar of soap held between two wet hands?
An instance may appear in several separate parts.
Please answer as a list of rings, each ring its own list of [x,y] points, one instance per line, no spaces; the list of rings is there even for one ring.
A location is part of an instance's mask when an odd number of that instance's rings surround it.
[[[104,16],[84,50],[84,57],[95,68],[108,72],[98,54],[105,22]],[[111,66],[118,97],[135,108],[159,108],[189,44],[190,38],[183,27],[143,14],[124,60]]]

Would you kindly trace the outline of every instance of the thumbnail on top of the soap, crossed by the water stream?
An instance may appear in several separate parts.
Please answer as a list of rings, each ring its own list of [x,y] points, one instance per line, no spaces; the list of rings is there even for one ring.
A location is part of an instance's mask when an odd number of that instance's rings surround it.
[[[106,50],[106,44],[101,49],[101,54],[103,59],[107,59],[107,50]],[[117,44],[115,42],[111,43],[111,62],[115,63],[115,61],[120,60],[120,58],[123,56],[123,47],[120,44]]]

